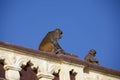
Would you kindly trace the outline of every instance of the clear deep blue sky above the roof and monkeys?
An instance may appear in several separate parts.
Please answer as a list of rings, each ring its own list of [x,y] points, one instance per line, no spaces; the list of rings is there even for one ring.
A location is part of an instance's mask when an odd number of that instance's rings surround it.
[[[55,28],[66,52],[95,49],[100,65],[120,70],[120,0],[0,0],[0,41],[37,50]]]

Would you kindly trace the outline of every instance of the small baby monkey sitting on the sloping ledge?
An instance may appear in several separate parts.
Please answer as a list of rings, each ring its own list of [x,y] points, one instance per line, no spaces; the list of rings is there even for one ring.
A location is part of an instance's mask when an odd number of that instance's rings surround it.
[[[98,60],[94,58],[95,55],[96,55],[96,51],[94,49],[91,49],[89,53],[85,56],[84,60],[92,64],[99,64]]]

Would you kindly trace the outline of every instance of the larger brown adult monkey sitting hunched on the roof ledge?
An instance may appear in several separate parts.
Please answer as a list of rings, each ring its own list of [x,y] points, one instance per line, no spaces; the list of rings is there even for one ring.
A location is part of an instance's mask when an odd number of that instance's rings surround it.
[[[58,40],[62,38],[62,34],[63,32],[59,28],[48,32],[40,43],[39,50],[53,54],[57,54],[59,51],[63,52],[64,50],[58,44]]]

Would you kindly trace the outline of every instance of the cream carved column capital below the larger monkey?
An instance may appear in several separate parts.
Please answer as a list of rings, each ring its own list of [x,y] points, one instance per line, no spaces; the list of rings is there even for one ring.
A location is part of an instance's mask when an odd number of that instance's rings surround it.
[[[32,68],[37,69],[37,77],[39,80],[52,80],[54,79],[53,73],[58,73],[60,67],[58,65],[49,63],[47,61],[44,62],[36,62],[31,61],[33,63]]]

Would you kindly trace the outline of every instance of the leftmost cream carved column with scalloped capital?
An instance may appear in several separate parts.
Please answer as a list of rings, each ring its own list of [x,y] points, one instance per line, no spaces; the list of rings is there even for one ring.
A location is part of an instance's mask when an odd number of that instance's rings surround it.
[[[22,70],[21,66],[26,65],[29,59],[24,56],[17,55],[9,52],[7,55],[1,54],[0,59],[4,60],[5,77],[8,80],[19,80],[19,71]]]

